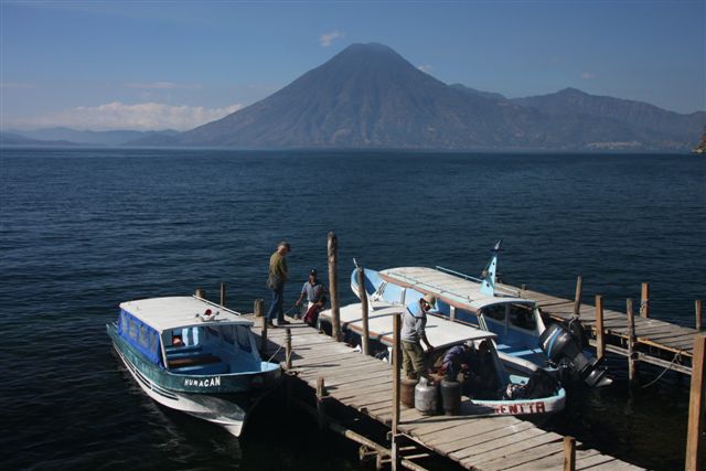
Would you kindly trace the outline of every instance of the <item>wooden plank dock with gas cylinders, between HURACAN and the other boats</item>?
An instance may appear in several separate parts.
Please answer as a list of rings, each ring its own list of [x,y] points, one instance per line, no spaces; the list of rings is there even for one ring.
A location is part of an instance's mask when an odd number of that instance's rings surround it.
[[[261,341],[261,318],[254,320],[254,332]],[[297,321],[288,329],[270,328],[265,335],[263,356],[274,355],[274,358],[282,363],[288,372],[286,381],[301,382],[312,390],[321,388],[323,382],[328,393],[327,400],[335,400],[383,426],[392,425],[394,375],[388,363],[363,355]],[[291,345],[289,362],[286,353],[288,343]],[[461,415],[452,417],[422,416],[416,409],[403,408],[397,432],[428,451],[419,453],[417,450],[413,457],[406,457],[403,452],[402,465],[422,470],[425,468],[420,462],[432,452],[472,470],[568,469],[565,468],[565,448],[568,442],[565,437],[511,416],[463,415],[464,411],[468,413],[470,405],[470,400],[464,398]],[[351,438],[350,433],[347,436]],[[389,446],[367,445],[368,449],[376,450],[383,459],[389,459],[385,457]],[[598,450],[585,449],[579,442],[576,442],[573,452],[577,470],[640,469]]]

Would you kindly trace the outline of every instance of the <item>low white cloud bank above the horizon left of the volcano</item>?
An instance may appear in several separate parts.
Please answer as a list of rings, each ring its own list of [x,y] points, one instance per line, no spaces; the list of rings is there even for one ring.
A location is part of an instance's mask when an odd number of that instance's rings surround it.
[[[243,108],[232,105],[224,108],[203,106],[171,106],[160,103],[126,105],[113,101],[96,107],[78,106],[55,114],[33,118],[7,119],[8,126],[17,128],[45,128],[65,126],[76,129],[111,130],[188,130],[221,119]]]

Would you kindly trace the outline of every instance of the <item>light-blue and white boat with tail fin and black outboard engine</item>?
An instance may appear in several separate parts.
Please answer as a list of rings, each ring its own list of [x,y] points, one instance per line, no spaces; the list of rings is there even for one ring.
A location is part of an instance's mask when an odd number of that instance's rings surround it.
[[[546,325],[534,300],[522,298],[518,291],[498,282],[501,243],[493,247],[482,278],[443,267],[365,269],[368,302],[371,306],[375,300],[404,302],[409,309],[418,309],[422,296],[434,295],[439,315],[495,333],[501,360],[521,374],[530,375],[537,367],[556,372],[555,365],[563,364],[591,387],[609,385],[612,381],[606,371],[588,352],[578,349],[565,328],[556,323]],[[351,289],[359,296],[356,270],[351,276]]]

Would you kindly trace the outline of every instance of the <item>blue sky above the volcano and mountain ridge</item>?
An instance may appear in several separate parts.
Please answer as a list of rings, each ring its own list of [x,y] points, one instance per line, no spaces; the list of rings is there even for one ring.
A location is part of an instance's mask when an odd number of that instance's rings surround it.
[[[4,129],[189,129],[356,42],[509,97],[706,109],[704,0],[0,1]]]

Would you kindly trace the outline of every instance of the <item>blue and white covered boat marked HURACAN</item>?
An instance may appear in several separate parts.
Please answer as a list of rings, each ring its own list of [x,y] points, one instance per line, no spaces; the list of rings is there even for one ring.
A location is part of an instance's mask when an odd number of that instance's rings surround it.
[[[196,297],[120,304],[106,325],[118,356],[159,404],[240,435],[248,411],[281,381],[260,358],[253,322]]]

